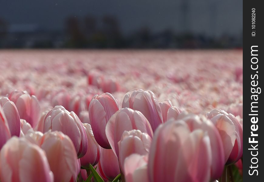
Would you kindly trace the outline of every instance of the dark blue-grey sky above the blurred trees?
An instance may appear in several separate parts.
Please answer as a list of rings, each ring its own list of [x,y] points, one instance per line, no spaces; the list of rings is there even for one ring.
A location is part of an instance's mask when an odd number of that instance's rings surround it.
[[[186,11],[182,2],[188,2]],[[60,30],[66,17],[86,15],[113,15],[124,34],[142,26],[153,32],[179,32],[187,26],[190,32],[207,35],[242,33],[241,0],[0,0],[0,18],[9,24]]]

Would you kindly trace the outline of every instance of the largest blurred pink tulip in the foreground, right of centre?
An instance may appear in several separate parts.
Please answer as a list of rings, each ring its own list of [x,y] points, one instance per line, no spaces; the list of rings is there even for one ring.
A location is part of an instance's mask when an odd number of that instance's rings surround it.
[[[148,160],[150,182],[208,182],[211,164],[207,132],[190,131],[182,120],[169,120],[157,128]]]

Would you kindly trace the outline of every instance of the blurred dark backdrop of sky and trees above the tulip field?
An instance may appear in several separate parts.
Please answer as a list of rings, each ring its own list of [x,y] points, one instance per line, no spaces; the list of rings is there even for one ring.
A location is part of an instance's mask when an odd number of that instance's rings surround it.
[[[1,0],[0,48],[242,48],[242,1]]]

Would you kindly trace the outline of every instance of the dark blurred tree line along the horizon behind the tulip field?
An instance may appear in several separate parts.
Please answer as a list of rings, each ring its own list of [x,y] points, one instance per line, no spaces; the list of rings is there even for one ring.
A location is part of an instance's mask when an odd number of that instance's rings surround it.
[[[0,48],[240,48],[242,32],[210,37],[188,32],[175,33],[172,29],[153,33],[147,26],[124,36],[118,20],[110,15],[98,20],[93,16],[83,19],[68,17],[62,31],[8,32],[8,22],[0,19]]]

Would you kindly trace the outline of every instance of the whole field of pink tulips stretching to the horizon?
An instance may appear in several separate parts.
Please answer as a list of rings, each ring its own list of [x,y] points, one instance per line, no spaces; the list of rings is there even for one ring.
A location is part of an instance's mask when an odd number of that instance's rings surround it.
[[[0,50],[0,182],[241,182],[241,50]]]

